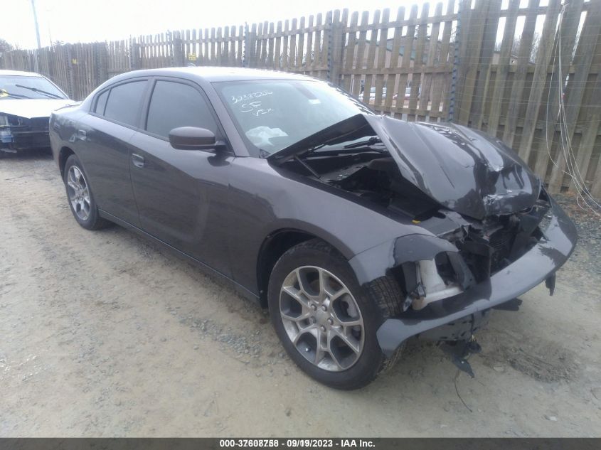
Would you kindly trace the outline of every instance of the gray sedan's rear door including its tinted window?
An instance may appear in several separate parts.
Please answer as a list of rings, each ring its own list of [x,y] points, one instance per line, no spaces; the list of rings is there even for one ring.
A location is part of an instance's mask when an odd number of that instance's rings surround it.
[[[139,127],[148,79],[134,79],[99,92],[80,121],[75,139],[98,207],[132,225],[139,215],[129,176],[130,144]]]

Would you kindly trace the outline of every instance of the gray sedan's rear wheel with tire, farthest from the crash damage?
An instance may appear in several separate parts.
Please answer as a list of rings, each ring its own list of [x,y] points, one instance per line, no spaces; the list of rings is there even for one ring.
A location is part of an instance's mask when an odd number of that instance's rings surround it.
[[[111,223],[100,217],[92,188],[87,180],[87,175],[78,157],[69,156],[65,162],[63,181],[71,213],[77,223],[86,230],[100,230]]]

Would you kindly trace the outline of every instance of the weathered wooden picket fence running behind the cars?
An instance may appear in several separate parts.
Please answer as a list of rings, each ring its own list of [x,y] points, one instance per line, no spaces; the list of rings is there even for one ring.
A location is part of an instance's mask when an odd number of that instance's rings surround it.
[[[521,3],[445,0],[400,7],[395,17],[388,9],[345,9],[277,23],[15,50],[1,55],[0,68],[36,70],[37,58],[38,71],[77,100],[114,75],[144,68],[222,65],[303,73],[340,85],[383,114],[482,129],[516,149],[551,191],[578,187],[565,173],[568,166],[598,198],[601,0]],[[563,98],[558,73],[565,77]]]

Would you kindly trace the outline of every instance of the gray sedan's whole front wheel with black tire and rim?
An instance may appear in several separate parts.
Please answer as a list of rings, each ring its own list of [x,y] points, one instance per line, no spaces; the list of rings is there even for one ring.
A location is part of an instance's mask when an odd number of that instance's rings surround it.
[[[385,289],[383,289],[383,284]],[[270,277],[270,316],[294,363],[337,389],[368,385],[396,359],[385,358],[376,331],[400,313],[400,289],[389,277],[359,286],[349,263],[321,240],[289,249]]]

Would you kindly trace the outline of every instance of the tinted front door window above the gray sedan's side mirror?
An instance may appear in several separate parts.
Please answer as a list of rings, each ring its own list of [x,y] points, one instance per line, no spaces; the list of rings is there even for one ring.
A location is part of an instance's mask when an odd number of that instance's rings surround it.
[[[217,133],[210,106],[198,90],[172,81],[157,81],[148,110],[147,132],[169,137],[177,127],[200,127]]]

